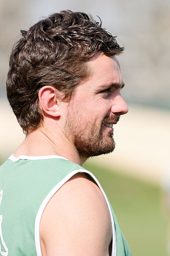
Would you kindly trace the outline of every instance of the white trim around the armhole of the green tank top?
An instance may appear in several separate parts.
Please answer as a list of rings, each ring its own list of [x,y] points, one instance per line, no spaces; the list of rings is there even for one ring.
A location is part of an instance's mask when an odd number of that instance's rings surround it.
[[[112,215],[112,212],[111,212],[110,204],[108,202],[107,196],[106,196],[102,186],[100,185],[100,182],[97,180],[97,178],[90,171],[87,171],[85,169],[78,169],[78,170],[70,172],[70,174],[67,174],[67,176],[64,177],[64,179],[62,179],[50,191],[49,194],[47,194],[47,196],[44,198],[43,202],[41,203],[41,206],[38,209],[38,212],[37,212],[37,215],[36,215],[36,218],[35,218],[35,247],[36,247],[37,256],[42,256],[42,254],[41,254],[41,243],[40,243],[40,221],[41,221],[42,213],[43,213],[47,203],[50,201],[51,197],[53,197],[53,195],[56,193],[56,191],[58,191],[59,188],[61,188],[62,185],[64,185],[65,182],[67,182],[71,177],[73,177],[77,173],[86,173],[92,179],[94,179],[94,181],[97,183],[98,187],[100,188],[103,196],[105,197],[105,200],[106,200],[106,203],[107,203],[107,206],[108,206],[108,210],[110,212],[111,224],[112,224],[112,250],[111,250],[111,256],[116,256],[116,232],[115,232],[114,218],[113,218],[113,215]]]

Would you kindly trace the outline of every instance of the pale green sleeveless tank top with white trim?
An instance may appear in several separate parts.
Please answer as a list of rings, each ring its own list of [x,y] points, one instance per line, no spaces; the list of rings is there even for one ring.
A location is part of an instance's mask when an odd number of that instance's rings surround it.
[[[111,256],[131,256],[113,209],[94,175],[60,156],[13,155],[0,167],[0,256],[42,256],[39,225],[50,198],[76,173],[83,172],[102,191],[111,215]]]

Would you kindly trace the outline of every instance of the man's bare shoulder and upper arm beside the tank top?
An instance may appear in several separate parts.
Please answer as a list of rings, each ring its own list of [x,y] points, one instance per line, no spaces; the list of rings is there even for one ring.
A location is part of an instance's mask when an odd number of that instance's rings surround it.
[[[100,188],[76,174],[51,198],[40,223],[43,256],[108,256],[111,219]]]

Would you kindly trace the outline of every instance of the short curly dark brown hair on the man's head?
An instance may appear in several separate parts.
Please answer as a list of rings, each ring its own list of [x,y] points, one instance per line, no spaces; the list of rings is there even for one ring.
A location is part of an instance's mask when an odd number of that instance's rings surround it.
[[[69,100],[88,77],[87,61],[98,53],[120,54],[123,47],[91,15],[69,10],[55,13],[21,30],[12,49],[6,81],[7,97],[23,131],[37,129],[43,114],[38,91],[51,85]]]

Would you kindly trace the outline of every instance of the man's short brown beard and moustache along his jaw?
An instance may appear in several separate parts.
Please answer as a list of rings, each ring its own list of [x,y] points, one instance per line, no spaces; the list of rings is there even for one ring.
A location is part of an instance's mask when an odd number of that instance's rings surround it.
[[[71,115],[69,113],[67,115],[65,131],[67,131],[67,136],[68,134],[71,135],[73,145],[79,156],[89,158],[108,154],[115,148],[113,130],[108,132],[107,130],[104,131],[103,128],[108,122],[119,121],[119,118],[119,115],[111,115],[105,117],[100,123],[97,123],[99,118],[96,118],[92,124],[90,120],[85,121],[80,112],[74,114],[72,112]]]

